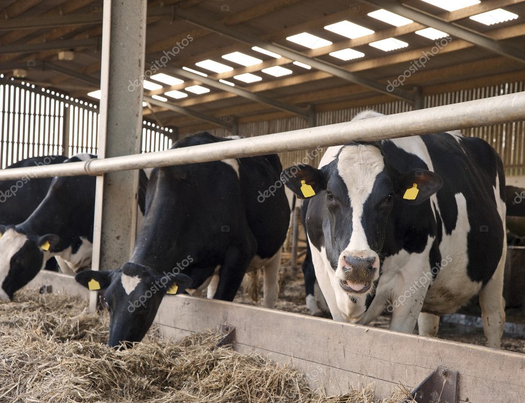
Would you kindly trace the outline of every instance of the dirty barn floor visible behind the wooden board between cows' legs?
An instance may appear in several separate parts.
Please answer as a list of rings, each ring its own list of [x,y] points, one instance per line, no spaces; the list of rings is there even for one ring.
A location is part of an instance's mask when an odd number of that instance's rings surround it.
[[[262,306],[262,279],[260,275],[259,283],[260,287],[258,302],[253,302],[249,296],[244,294],[241,290],[237,293],[234,302]],[[292,274],[291,271],[286,268],[286,259],[283,259],[279,283],[279,298],[277,300],[276,309],[309,315],[310,313],[304,303],[304,279],[300,264],[298,265],[296,273]],[[327,317],[330,317],[330,315],[327,315]],[[507,312],[507,320],[509,320],[509,317],[509,312]],[[381,328],[388,328],[388,324],[390,324],[390,316],[386,314],[386,312],[384,315],[379,316],[371,323],[372,326]],[[457,325],[442,322],[439,326],[438,337],[445,340],[486,345],[486,338],[482,329],[475,326]],[[503,334],[501,348],[508,351],[525,353],[525,334],[523,335],[523,338],[511,337],[507,334]]]

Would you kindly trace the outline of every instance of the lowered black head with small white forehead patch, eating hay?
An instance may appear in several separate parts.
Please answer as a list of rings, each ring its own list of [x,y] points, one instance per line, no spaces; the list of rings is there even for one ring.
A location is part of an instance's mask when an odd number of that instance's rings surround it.
[[[101,303],[110,313],[111,347],[140,342],[166,292],[181,293],[192,283],[185,274],[157,273],[135,263],[125,263],[112,271],[83,271],[75,279],[90,290],[100,290]]]

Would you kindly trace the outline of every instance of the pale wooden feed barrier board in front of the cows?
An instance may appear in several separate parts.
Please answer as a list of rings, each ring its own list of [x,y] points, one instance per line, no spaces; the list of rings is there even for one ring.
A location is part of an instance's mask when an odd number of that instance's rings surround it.
[[[69,275],[44,271],[28,287],[43,285],[84,298],[89,293]],[[378,397],[388,397],[397,385],[410,390],[444,366],[459,372],[459,401],[525,396],[525,355],[519,353],[189,295],[166,295],[155,323],[173,339],[235,326],[236,351],[290,364],[330,394],[374,384]]]

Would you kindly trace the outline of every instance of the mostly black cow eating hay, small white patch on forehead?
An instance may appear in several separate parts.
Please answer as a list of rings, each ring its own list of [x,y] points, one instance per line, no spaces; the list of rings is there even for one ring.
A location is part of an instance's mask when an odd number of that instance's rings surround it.
[[[230,141],[199,133],[172,148]],[[276,154],[155,168],[146,215],[130,262],[113,271],[78,273],[103,291],[108,345],[141,341],[173,284],[204,289],[218,272],[215,299],[232,301],[246,271],[264,267],[264,302],[277,299],[281,246],[290,209]],[[276,185],[277,184],[277,185]],[[268,189],[273,195],[261,198]]]

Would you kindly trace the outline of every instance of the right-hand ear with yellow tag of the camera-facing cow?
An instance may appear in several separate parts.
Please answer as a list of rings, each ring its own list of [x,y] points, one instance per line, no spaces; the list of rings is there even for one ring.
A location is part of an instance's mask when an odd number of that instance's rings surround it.
[[[443,186],[443,179],[427,169],[412,169],[399,174],[398,184],[404,202],[420,204]]]

